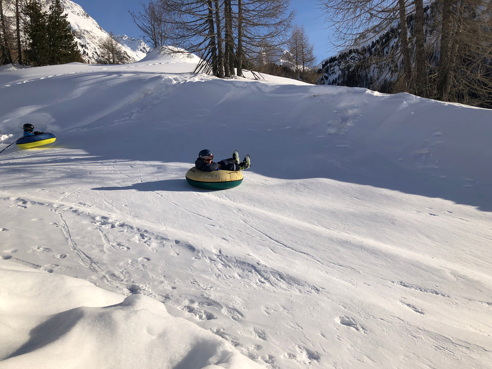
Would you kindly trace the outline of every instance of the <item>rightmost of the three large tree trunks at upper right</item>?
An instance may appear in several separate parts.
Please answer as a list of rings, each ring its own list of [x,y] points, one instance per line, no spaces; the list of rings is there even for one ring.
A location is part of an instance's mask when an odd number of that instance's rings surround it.
[[[450,59],[451,59],[451,43],[452,43],[452,33],[453,33],[453,17],[452,17],[452,1],[453,0],[443,0],[442,6],[442,34],[440,43],[440,53],[439,53],[439,72],[437,77],[437,93],[443,99],[443,101],[448,101],[444,97],[446,84],[448,81],[448,74],[450,72]],[[449,94],[448,94],[449,97]]]

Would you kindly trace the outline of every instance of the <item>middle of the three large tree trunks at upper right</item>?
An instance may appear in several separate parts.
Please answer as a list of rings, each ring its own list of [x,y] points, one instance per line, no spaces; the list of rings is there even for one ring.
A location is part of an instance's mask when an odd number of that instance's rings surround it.
[[[415,0],[415,93],[425,95],[427,66],[425,57],[424,1]]]

